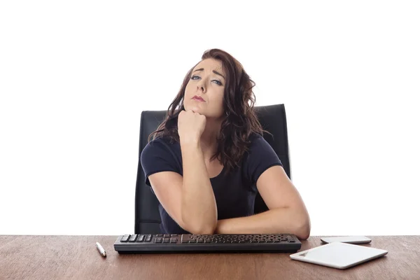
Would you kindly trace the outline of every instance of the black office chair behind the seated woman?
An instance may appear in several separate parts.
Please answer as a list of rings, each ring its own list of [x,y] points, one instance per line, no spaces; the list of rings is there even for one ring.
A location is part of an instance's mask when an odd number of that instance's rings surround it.
[[[262,128],[272,134],[264,134],[265,140],[272,146],[279,156],[287,176],[290,176],[290,161],[288,153],[288,136],[286,111],[284,104],[270,106],[255,106],[258,120]],[[148,136],[155,131],[164,120],[167,111],[143,111],[140,118],[140,146],[139,165],[137,168],[137,183],[135,196],[135,224],[134,233],[160,233],[160,214],[158,209],[158,198],[151,192],[144,179],[143,168],[141,167],[140,155],[148,143]],[[267,205],[258,193],[255,197],[254,214],[267,211]]]

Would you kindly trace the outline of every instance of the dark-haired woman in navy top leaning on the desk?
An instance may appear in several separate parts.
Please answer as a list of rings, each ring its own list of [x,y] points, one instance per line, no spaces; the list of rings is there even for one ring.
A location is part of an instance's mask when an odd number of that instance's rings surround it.
[[[292,233],[310,220],[253,111],[253,80],[223,50],[188,71],[167,118],[141,153],[162,233]],[[253,215],[259,192],[268,211]]]

